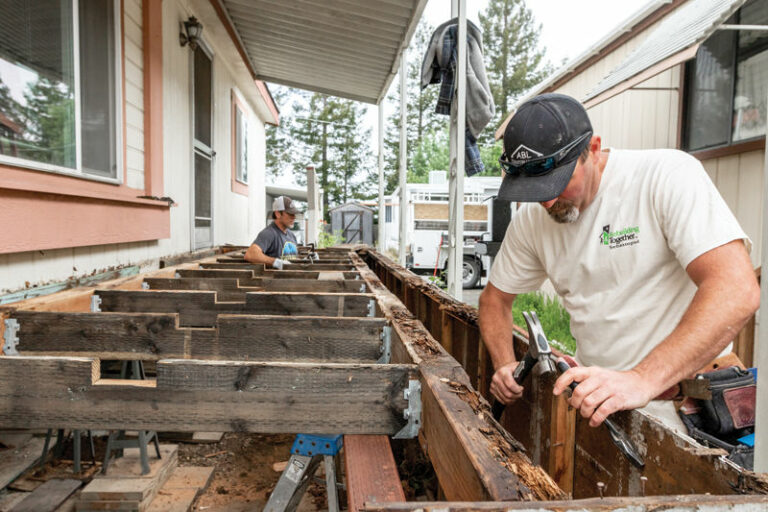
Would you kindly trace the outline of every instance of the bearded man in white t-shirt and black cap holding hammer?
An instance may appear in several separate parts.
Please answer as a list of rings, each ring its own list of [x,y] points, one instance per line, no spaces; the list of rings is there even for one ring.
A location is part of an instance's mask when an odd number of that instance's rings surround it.
[[[590,425],[645,407],[717,357],[759,305],[749,239],[701,164],[677,150],[601,151],[584,107],[560,94],[520,106],[504,134],[499,197],[515,213],[480,297],[480,329],[508,404],[512,303],[549,278],[571,315],[579,365],[570,404]],[[538,203],[538,204],[537,204]]]

